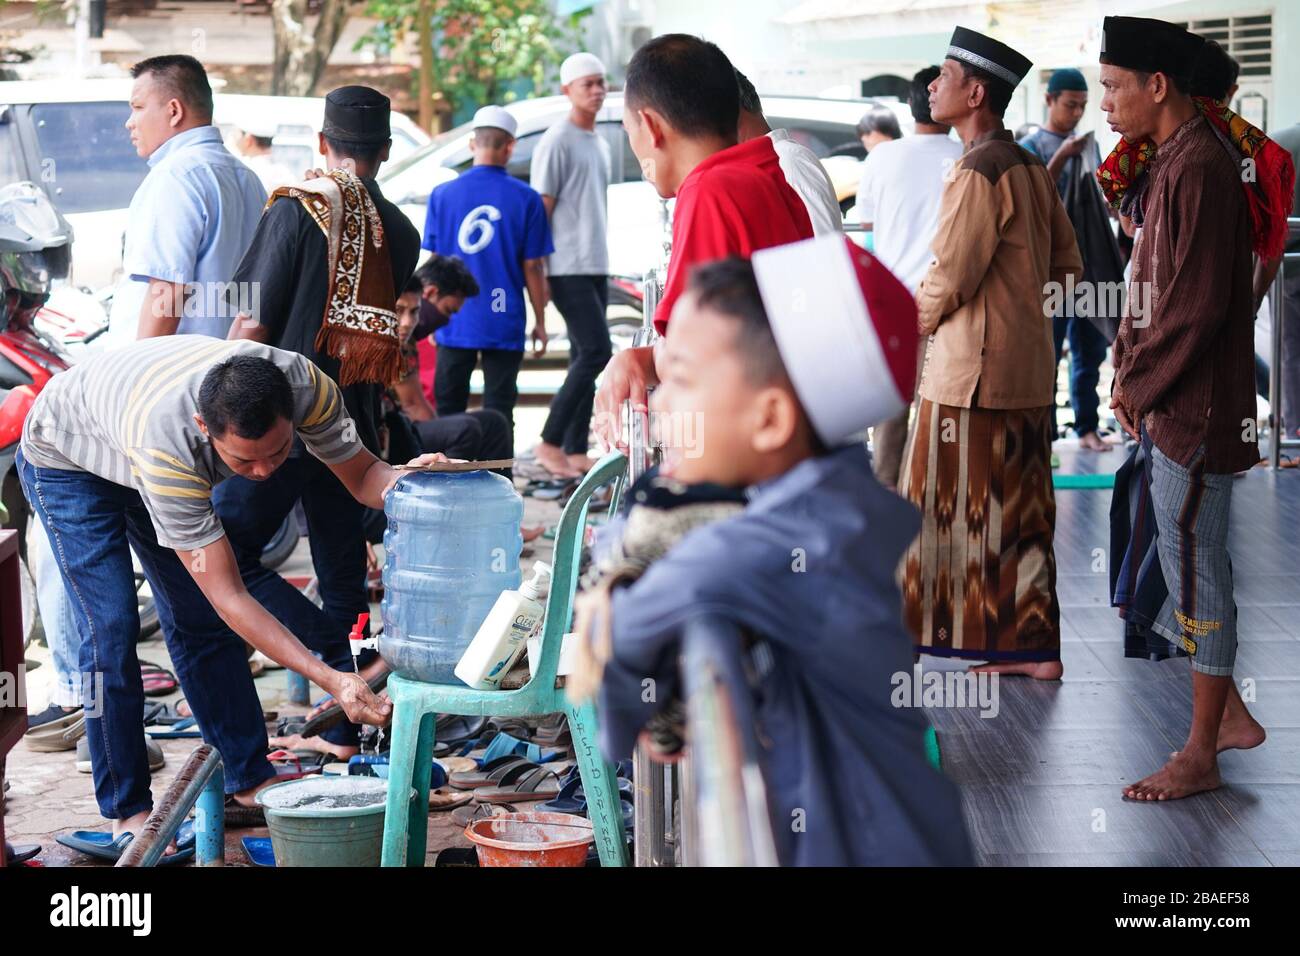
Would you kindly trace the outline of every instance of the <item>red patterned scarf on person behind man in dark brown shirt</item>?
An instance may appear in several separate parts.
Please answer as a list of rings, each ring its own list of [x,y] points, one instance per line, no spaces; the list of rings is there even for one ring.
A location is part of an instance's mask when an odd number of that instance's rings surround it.
[[[1227,107],[1208,96],[1192,101],[1222,139],[1243,159],[1253,161],[1253,176],[1242,177],[1247,204],[1251,208],[1251,235],[1254,252],[1261,259],[1279,256],[1287,242],[1287,216],[1295,200],[1295,164],[1291,153],[1269,139]],[[1121,139],[1097,168],[1097,182],[1110,206],[1118,208],[1124,193],[1147,172],[1156,144],[1144,139],[1131,143]]]

